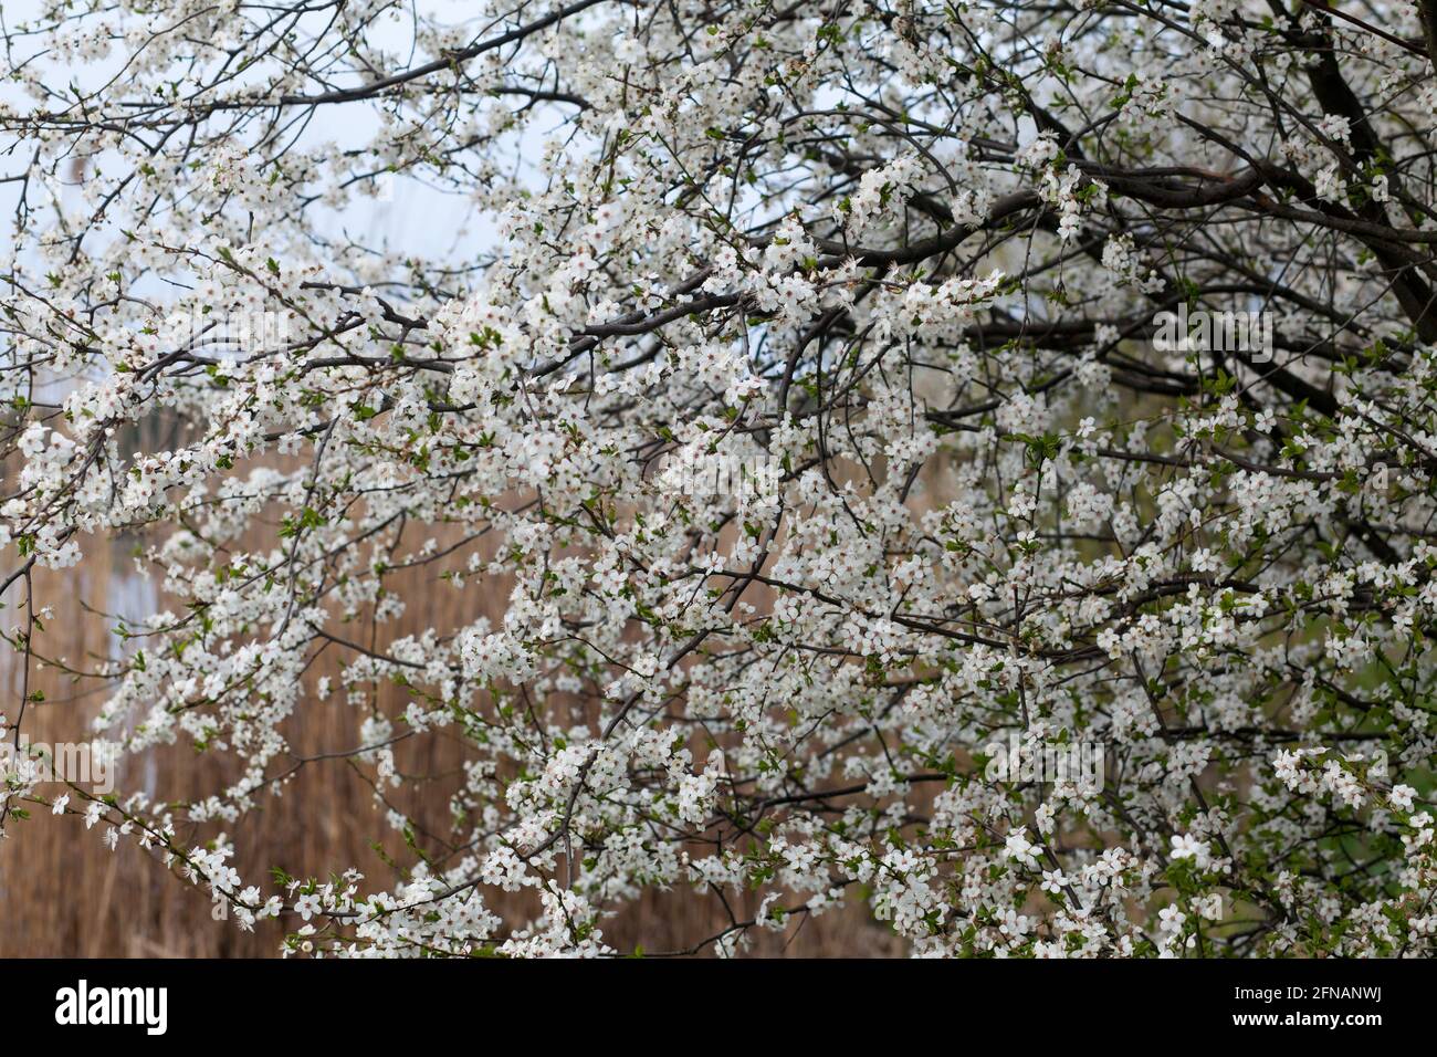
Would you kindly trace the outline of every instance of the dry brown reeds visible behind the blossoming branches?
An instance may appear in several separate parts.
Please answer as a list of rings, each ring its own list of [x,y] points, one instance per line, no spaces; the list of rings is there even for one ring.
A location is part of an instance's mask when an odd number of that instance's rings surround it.
[[[417,541],[405,541],[412,545]],[[65,572],[37,571],[37,605],[52,605],[53,620],[34,639],[45,656],[65,657],[72,667],[93,669],[118,656],[114,614],[131,620],[148,610],[175,608],[154,598],[149,584],[135,571],[134,541],[91,536],[85,558]],[[11,555],[6,555],[13,558]],[[463,557],[463,554],[460,555]],[[457,567],[458,562],[456,562]],[[504,594],[491,582],[474,578],[456,590],[438,580],[438,567],[404,569],[388,581],[407,601],[402,617],[381,628],[379,641],[415,634],[427,627],[456,628],[484,614],[499,623]],[[138,595],[138,597],[135,597]],[[756,601],[754,595],[747,595]],[[3,598],[0,623],[22,621],[23,588],[17,584]],[[760,603],[762,605],[762,603]],[[137,613],[135,610],[139,610]],[[105,616],[112,614],[112,616]],[[322,653],[306,676],[308,687],[322,676],[338,685],[343,664],[338,649]],[[17,656],[0,654],[0,686],[6,712],[20,700]],[[32,742],[82,741],[99,710],[103,680],[75,682],[53,667],[32,666],[30,689],[43,690],[45,703],[30,706],[24,729]],[[399,687],[375,687],[379,710],[397,716],[407,696]],[[343,702],[306,695],[286,735],[297,756],[348,751],[358,745],[361,713]],[[578,718],[578,716],[576,716]],[[591,718],[592,719],[592,718]],[[696,746],[697,748],[697,746]],[[402,805],[422,828],[443,837],[447,801],[456,788],[466,752],[451,738],[408,739],[395,746],[398,769],[410,781],[398,791]],[[157,800],[182,801],[210,792],[237,777],[233,761],[197,754],[180,743],[125,761],[116,788],[145,788]],[[167,873],[157,860],[129,843],[111,851],[103,830],[86,831],[76,817],[50,817],[43,810],[23,823],[0,846],[0,956],[274,956],[282,926],[262,922],[244,933],[231,922],[214,920],[208,896]],[[375,805],[365,772],[342,759],[300,768],[282,797],[266,797],[228,834],[237,847],[236,867],[247,883],[266,887],[272,867],[290,876],[326,876],[348,866],[359,867],[374,887],[389,887],[394,870],[385,857],[412,863],[402,841],[389,831]],[[381,838],[382,856],[371,846]],[[420,837],[425,850],[443,850],[438,841]],[[522,896],[484,892],[496,910],[520,909]],[[730,905],[736,913],[754,912],[747,894]],[[713,896],[696,897],[688,889],[647,892],[619,910],[605,928],[605,939],[621,951],[642,946],[648,952],[684,949],[727,925],[727,913]],[[887,928],[872,922],[861,902],[818,919],[798,916],[783,933],[760,932],[757,955],[892,955],[901,943]]]

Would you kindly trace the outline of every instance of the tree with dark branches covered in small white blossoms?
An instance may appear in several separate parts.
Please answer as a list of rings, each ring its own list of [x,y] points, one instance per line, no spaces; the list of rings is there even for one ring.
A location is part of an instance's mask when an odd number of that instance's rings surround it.
[[[652,887],[731,909],[696,952],[844,903],[920,953],[1431,951],[1430,0],[424,7],[7,17],[4,630],[59,663],[33,572],[138,534],[174,604],[76,672],[96,733],[240,764],[17,767],[10,828],[361,955],[606,953]],[[491,236],[336,221],[408,186]],[[394,633],[415,567],[503,620]],[[412,860],[241,877],[333,693]],[[385,800],[435,738],[443,854]]]

